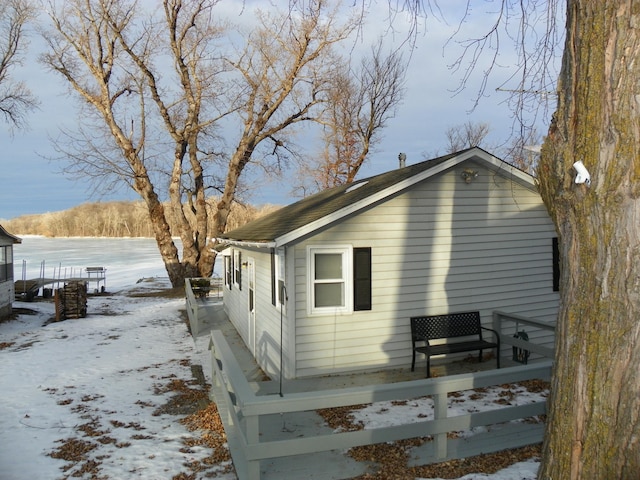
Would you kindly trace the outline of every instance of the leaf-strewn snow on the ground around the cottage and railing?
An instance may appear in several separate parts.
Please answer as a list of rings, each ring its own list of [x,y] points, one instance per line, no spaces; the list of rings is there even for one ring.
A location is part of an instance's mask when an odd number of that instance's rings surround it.
[[[0,479],[236,478],[224,463],[190,470],[211,452],[185,448],[193,433],[179,422],[184,415],[159,413],[172,396],[168,383],[193,381],[192,364],[202,365],[210,380],[206,339],[194,342],[187,332],[183,298],[90,297],[86,318],[53,323],[52,303],[15,302],[14,308],[35,313],[0,323]],[[512,403],[531,395],[516,393]],[[461,395],[451,408],[497,407],[501,393]],[[430,410],[419,402],[376,403],[355,420],[365,428],[406,423]],[[85,460],[50,456],[63,448]],[[528,461],[462,478],[528,480],[537,469],[538,462]]]

